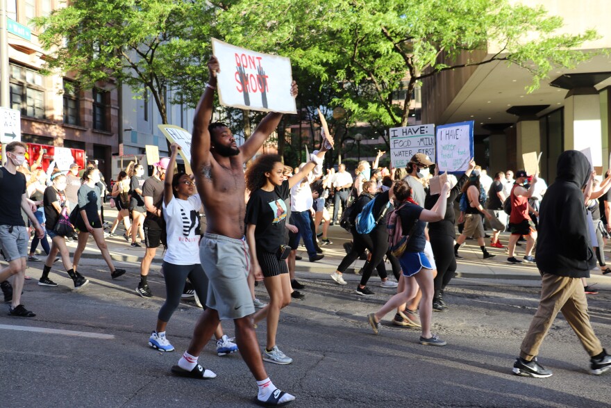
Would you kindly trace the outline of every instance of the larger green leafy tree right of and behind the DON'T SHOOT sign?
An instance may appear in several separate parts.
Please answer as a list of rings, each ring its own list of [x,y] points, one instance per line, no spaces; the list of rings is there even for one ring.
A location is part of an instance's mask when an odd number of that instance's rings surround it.
[[[506,61],[530,71],[534,90],[554,67],[590,58],[573,48],[596,38],[558,34],[560,17],[508,0],[242,0],[225,9],[228,42],[290,56],[342,91],[336,106],[380,128],[405,126],[417,83],[440,72]],[[489,44],[499,51],[488,54]]]

